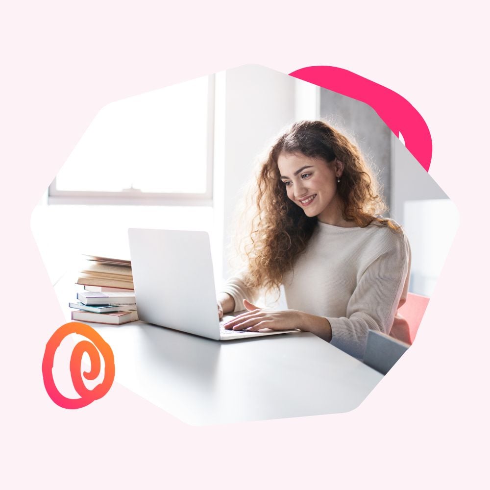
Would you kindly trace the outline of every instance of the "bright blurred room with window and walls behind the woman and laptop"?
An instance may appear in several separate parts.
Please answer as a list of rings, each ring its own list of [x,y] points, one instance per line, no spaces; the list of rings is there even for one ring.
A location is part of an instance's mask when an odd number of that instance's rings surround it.
[[[230,274],[235,209],[259,155],[287,125],[318,118],[354,140],[378,173],[387,216],[412,246],[410,291],[431,296],[458,213],[403,135],[363,102],[254,65],[98,112],[32,214],[51,283],[82,253],[129,258],[128,228],[167,228],[209,232],[219,289]]]

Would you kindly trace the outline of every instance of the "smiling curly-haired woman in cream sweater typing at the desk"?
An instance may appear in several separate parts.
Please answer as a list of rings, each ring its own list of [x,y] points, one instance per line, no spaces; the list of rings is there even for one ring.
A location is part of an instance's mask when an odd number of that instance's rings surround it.
[[[369,329],[390,333],[405,302],[410,247],[358,148],[323,121],[302,121],[272,146],[255,191],[246,272],[218,296],[225,328],[312,332],[362,358]],[[284,285],[284,311],[253,304]],[[398,320],[396,329],[408,325]]]

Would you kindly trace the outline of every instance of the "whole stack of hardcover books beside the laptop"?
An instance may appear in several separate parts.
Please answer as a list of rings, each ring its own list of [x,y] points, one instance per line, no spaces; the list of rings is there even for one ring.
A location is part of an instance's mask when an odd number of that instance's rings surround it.
[[[138,319],[129,260],[86,255],[76,284],[84,291],[69,303],[72,320],[122,325]]]

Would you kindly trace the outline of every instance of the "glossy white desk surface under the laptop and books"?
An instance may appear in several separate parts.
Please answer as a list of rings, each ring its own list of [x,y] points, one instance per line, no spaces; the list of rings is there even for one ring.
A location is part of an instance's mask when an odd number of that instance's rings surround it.
[[[56,290],[68,312],[73,286]],[[217,342],[142,321],[88,324],[111,346],[118,383],[192,425],[348,412],[383,377],[306,332]]]

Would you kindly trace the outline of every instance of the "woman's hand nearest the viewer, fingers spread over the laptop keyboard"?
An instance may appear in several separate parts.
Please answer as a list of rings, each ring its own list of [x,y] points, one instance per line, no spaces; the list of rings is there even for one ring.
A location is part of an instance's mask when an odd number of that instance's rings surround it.
[[[271,330],[292,330],[300,328],[302,313],[297,310],[275,311],[261,309],[244,299],[244,306],[248,310],[235,319],[224,324],[229,330],[244,330],[250,332],[270,328]]]

